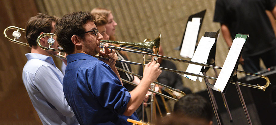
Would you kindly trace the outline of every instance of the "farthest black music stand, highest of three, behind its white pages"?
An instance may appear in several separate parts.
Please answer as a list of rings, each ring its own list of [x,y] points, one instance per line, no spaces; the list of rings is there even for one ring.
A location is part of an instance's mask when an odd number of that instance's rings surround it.
[[[205,12],[206,12],[206,9],[203,10],[203,11],[201,11],[201,12],[199,12],[199,13],[193,14],[193,15],[189,16],[189,18],[188,18],[188,21],[192,21],[192,18],[194,18],[194,17],[201,18],[200,19],[200,25],[199,25],[198,33],[197,33],[197,41],[198,41],[198,34],[200,32],[200,29],[201,29],[201,25],[202,25],[202,22],[203,22],[203,18],[204,18]],[[187,24],[188,24],[188,21],[187,21]],[[187,27],[187,24],[186,24],[186,27]],[[181,50],[182,44],[183,44],[183,40],[184,40],[184,36],[185,36],[185,32],[186,32],[186,28],[185,28],[185,31],[184,31],[184,34],[183,34],[183,37],[182,37],[182,42],[181,42],[180,46],[174,48],[175,50]]]

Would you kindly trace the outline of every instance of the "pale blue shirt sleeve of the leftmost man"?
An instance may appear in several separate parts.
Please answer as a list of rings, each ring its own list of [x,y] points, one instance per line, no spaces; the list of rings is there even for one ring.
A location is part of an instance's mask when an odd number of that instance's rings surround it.
[[[36,88],[63,116],[74,116],[74,112],[64,97],[61,83],[62,78],[59,77],[52,67],[47,65],[41,66],[36,72],[34,81]]]

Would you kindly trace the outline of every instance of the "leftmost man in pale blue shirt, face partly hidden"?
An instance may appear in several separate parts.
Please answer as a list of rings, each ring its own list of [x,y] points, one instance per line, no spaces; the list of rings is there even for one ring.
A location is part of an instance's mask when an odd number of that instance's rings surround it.
[[[45,51],[36,44],[40,34],[54,32],[56,20],[56,17],[42,13],[28,20],[25,38],[32,49],[31,53],[26,54],[28,62],[23,68],[22,79],[33,107],[44,125],[79,124],[64,97],[63,74],[50,57],[56,52]],[[49,46],[48,39],[49,37],[42,38],[40,44]],[[59,44],[55,42],[52,47],[58,48],[58,46]]]

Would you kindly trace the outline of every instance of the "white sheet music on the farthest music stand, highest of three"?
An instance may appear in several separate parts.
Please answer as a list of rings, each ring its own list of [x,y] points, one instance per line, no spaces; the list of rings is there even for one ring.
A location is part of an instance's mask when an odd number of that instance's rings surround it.
[[[197,42],[197,34],[200,26],[200,19],[193,18],[192,21],[188,21],[186,32],[184,35],[180,56],[185,58],[192,58],[194,55],[194,48]]]

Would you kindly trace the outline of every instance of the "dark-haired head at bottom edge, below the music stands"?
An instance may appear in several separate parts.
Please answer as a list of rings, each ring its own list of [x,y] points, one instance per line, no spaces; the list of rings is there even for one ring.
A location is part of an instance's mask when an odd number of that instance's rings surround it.
[[[197,94],[187,94],[174,104],[174,113],[192,118],[213,120],[213,108],[210,102]]]

